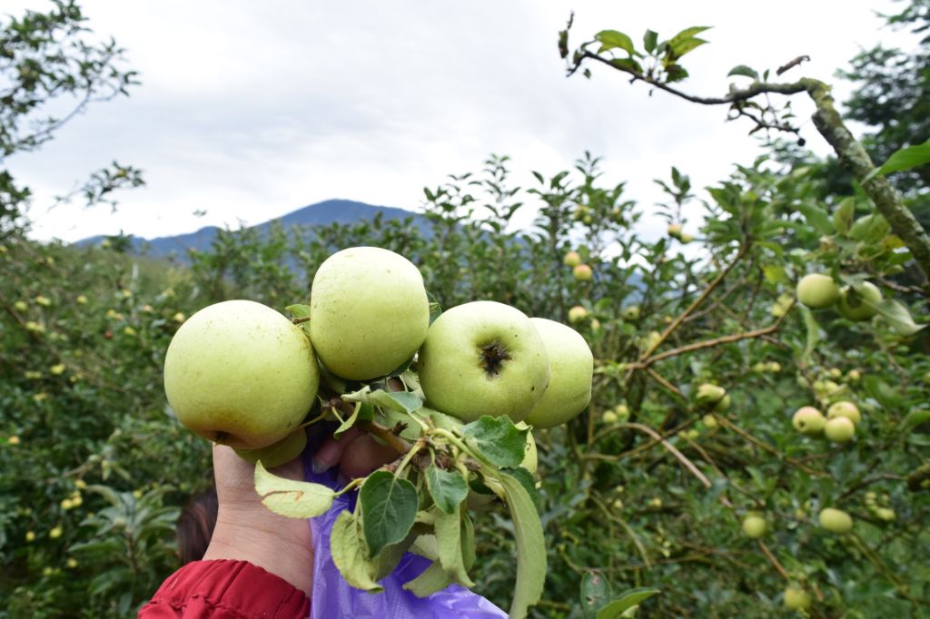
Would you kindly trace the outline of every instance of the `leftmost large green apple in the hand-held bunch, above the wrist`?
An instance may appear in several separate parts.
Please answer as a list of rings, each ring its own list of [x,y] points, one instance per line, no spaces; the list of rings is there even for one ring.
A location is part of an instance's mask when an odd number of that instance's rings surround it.
[[[237,449],[267,447],[292,433],[319,383],[303,330],[253,301],[224,301],[196,312],[165,357],[165,393],[179,421]]]

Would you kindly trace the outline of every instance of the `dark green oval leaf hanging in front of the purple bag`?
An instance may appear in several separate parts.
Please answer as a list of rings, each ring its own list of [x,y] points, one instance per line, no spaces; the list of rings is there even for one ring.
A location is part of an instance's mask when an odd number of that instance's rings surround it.
[[[362,530],[369,556],[406,537],[417,520],[419,499],[410,481],[399,480],[386,470],[375,471],[358,494],[362,504]]]

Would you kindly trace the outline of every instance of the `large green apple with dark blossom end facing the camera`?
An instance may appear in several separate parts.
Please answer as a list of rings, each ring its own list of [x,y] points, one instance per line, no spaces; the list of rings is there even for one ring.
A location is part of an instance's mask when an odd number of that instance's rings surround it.
[[[523,421],[550,380],[546,345],[520,310],[473,301],[446,310],[419,349],[419,384],[430,406],[462,421]]]

